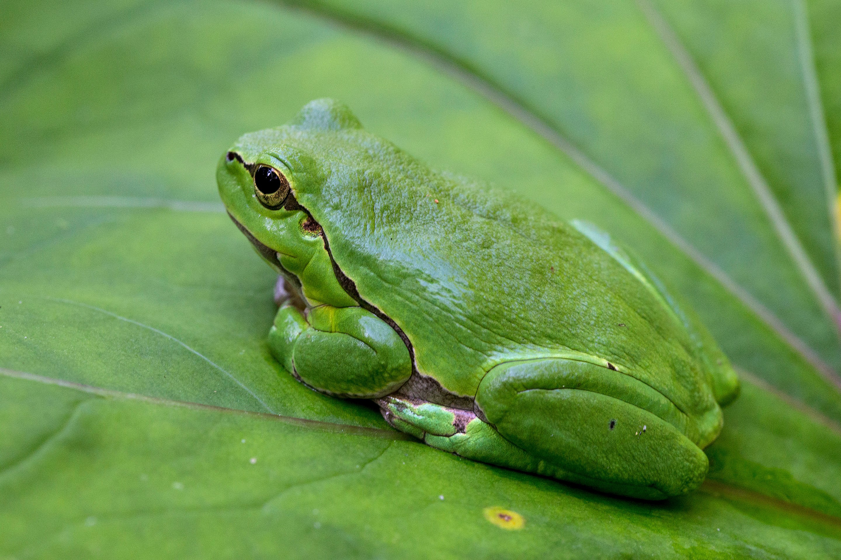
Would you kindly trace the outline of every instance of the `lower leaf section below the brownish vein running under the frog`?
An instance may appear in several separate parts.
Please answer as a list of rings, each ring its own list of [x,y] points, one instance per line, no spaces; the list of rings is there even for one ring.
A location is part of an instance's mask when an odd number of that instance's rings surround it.
[[[837,519],[778,510],[718,484],[668,504],[620,500],[396,432],[34,379],[0,379],[0,387],[3,420],[32,422],[37,432],[0,479],[4,545],[15,557],[138,557],[145,551],[131,545],[139,542],[150,557],[196,558],[841,552]],[[31,421],[26,405],[48,401],[50,425]],[[493,506],[523,516],[521,531],[486,521]],[[26,523],[34,519],[38,538]]]

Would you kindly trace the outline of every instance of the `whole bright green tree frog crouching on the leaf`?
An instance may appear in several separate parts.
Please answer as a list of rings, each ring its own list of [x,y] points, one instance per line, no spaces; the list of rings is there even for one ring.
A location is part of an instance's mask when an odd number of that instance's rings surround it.
[[[312,389],[373,399],[432,447],[613,494],[703,481],[738,377],[606,233],[431,170],[327,99],[244,135],[217,180],[282,275],[269,347]]]

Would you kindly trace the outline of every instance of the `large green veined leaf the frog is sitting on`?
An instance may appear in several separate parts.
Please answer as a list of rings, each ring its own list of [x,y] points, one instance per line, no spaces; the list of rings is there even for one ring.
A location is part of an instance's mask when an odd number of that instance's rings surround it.
[[[796,12],[728,6],[4,6],[0,557],[841,554],[838,265],[803,39]],[[787,42],[743,56],[760,24]],[[699,491],[649,504],[473,463],[280,369],[272,271],[214,166],[325,96],[606,228],[696,305],[744,379]]]

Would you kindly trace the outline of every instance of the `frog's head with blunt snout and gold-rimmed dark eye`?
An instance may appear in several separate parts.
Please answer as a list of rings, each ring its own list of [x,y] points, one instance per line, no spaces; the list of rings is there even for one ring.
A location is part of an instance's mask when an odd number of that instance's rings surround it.
[[[230,217],[257,253],[303,285],[310,301],[336,301],[326,287],[336,279],[331,268],[315,266],[326,255],[321,226],[300,196],[309,196],[312,206],[337,166],[357,167],[352,162],[370,136],[345,105],[318,99],[288,124],[243,135],[217,167]],[[318,268],[324,277],[315,278]]]

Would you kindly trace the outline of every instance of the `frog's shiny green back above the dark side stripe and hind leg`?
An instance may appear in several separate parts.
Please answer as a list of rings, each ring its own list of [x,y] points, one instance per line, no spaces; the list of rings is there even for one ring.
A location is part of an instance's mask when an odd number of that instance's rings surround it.
[[[295,186],[299,202],[359,295],[410,339],[419,374],[473,396],[496,364],[572,357],[631,374],[687,411],[715,406],[685,328],[569,224],[361,129],[304,144],[324,159]]]

